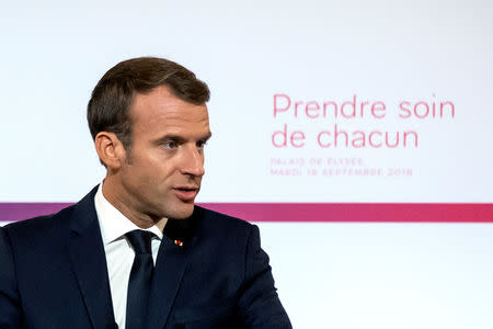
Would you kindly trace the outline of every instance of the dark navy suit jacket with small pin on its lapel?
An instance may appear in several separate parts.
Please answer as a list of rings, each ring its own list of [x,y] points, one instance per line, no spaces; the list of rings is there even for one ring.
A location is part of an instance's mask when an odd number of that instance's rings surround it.
[[[0,228],[0,328],[115,328],[95,191]],[[291,328],[256,226],[196,206],[164,234],[147,328]]]

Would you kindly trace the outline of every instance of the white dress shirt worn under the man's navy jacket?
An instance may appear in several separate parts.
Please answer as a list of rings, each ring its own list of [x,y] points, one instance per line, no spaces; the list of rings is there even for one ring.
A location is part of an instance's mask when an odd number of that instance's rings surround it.
[[[125,329],[128,280],[135,257],[134,249],[125,238],[125,234],[141,228],[116,209],[104,197],[102,189],[103,183],[100,184],[98,193],[94,196],[94,205],[98,220],[100,222],[101,236],[103,237],[104,252],[106,254],[113,313],[118,328]],[[146,230],[153,232],[156,236],[151,240],[152,259],[156,265],[162,231],[157,226],[152,226]]]

